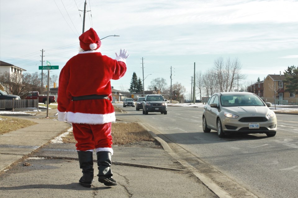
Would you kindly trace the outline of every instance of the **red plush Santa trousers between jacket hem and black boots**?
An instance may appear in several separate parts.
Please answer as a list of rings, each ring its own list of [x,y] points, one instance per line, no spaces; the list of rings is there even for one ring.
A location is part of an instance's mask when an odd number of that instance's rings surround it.
[[[77,124],[73,123],[73,133],[77,140],[77,150],[87,151],[96,148],[112,148],[112,123]]]

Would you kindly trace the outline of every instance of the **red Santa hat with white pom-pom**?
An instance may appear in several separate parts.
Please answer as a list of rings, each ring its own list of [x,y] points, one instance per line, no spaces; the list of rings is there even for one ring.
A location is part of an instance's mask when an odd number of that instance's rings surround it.
[[[88,31],[84,32],[81,36],[79,36],[79,40],[80,47],[84,51],[96,50],[102,44],[97,33],[94,31],[93,28],[90,28]]]

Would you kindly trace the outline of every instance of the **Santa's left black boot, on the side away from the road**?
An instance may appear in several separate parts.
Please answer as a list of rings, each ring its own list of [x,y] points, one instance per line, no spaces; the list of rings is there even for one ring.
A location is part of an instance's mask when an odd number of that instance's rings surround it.
[[[93,170],[93,152],[91,151],[78,151],[80,168],[83,169],[83,176],[79,180],[79,183],[84,187],[91,187],[91,183],[94,181]]]

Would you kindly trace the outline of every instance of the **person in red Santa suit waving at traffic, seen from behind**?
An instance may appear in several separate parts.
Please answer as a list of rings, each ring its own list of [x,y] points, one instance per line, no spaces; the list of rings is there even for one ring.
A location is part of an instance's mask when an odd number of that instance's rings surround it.
[[[111,123],[115,121],[111,104],[111,82],[126,72],[127,51],[120,50],[112,59],[100,53],[101,41],[90,28],[80,37],[79,54],[62,68],[58,88],[58,120],[72,123],[76,148],[83,176],[79,183],[91,187],[93,149],[96,150],[98,181],[106,186],[117,185],[112,178]]]

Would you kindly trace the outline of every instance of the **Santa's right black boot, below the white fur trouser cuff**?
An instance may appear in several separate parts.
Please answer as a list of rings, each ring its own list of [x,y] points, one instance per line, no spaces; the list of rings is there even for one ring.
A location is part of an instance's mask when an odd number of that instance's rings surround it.
[[[98,165],[98,181],[105,184],[106,186],[117,185],[116,180],[112,178],[113,173],[110,168],[112,165],[112,154],[108,151],[99,151],[96,153],[96,155]]]

